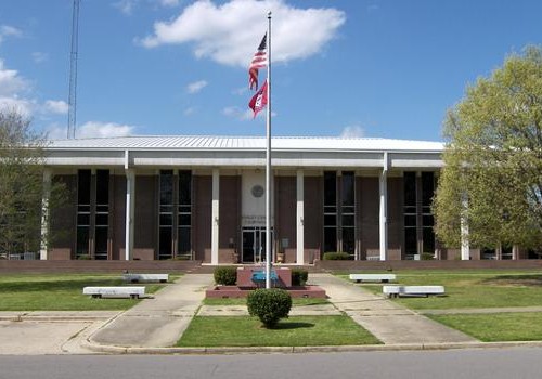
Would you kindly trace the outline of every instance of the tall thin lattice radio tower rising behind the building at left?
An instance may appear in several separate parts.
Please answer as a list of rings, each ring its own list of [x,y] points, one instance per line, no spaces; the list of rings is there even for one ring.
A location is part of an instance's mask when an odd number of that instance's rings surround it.
[[[72,15],[72,51],[69,53],[69,97],[67,138],[75,139],[77,120],[77,51],[79,40],[79,1],[74,0]]]

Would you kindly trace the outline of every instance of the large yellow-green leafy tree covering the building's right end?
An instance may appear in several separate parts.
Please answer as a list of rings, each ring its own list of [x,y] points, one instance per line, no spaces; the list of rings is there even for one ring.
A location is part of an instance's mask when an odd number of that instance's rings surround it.
[[[444,121],[435,232],[460,246],[461,218],[478,247],[542,240],[542,49],[479,78]],[[465,207],[467,205],[467,207]]]

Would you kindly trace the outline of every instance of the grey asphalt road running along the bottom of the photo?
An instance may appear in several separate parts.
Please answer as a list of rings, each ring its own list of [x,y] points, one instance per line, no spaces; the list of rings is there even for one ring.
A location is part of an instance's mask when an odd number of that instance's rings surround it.
[[[0,379],[415,378],[542,376],[542,348],[261,355],[3,355]]]

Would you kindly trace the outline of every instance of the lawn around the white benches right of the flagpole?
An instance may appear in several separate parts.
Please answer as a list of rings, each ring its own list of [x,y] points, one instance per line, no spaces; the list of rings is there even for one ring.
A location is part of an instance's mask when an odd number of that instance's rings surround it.
[[[397,271],[400,285],[442,285],[446,296],[400,298],[415,310],[542,306],[542,273],[532,271]],[[343,275],[341,275],[343,276]],[[348,279],[348,276],[344,276]],[[382,293],[382,285],[362,285]]]

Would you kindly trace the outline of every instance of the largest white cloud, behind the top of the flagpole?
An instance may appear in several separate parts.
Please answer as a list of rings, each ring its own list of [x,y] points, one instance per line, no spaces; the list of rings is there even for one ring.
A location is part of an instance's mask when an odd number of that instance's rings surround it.
[[[199,0],[172,21],[156,22],[154,32],[141,40],[146,48],[193,43],[196,57],[246,67],[273,12],[273,62],[288,62],[319,53],[345,23],[343,11],[299,9],[284,0],[231,0],[216,5]]]

